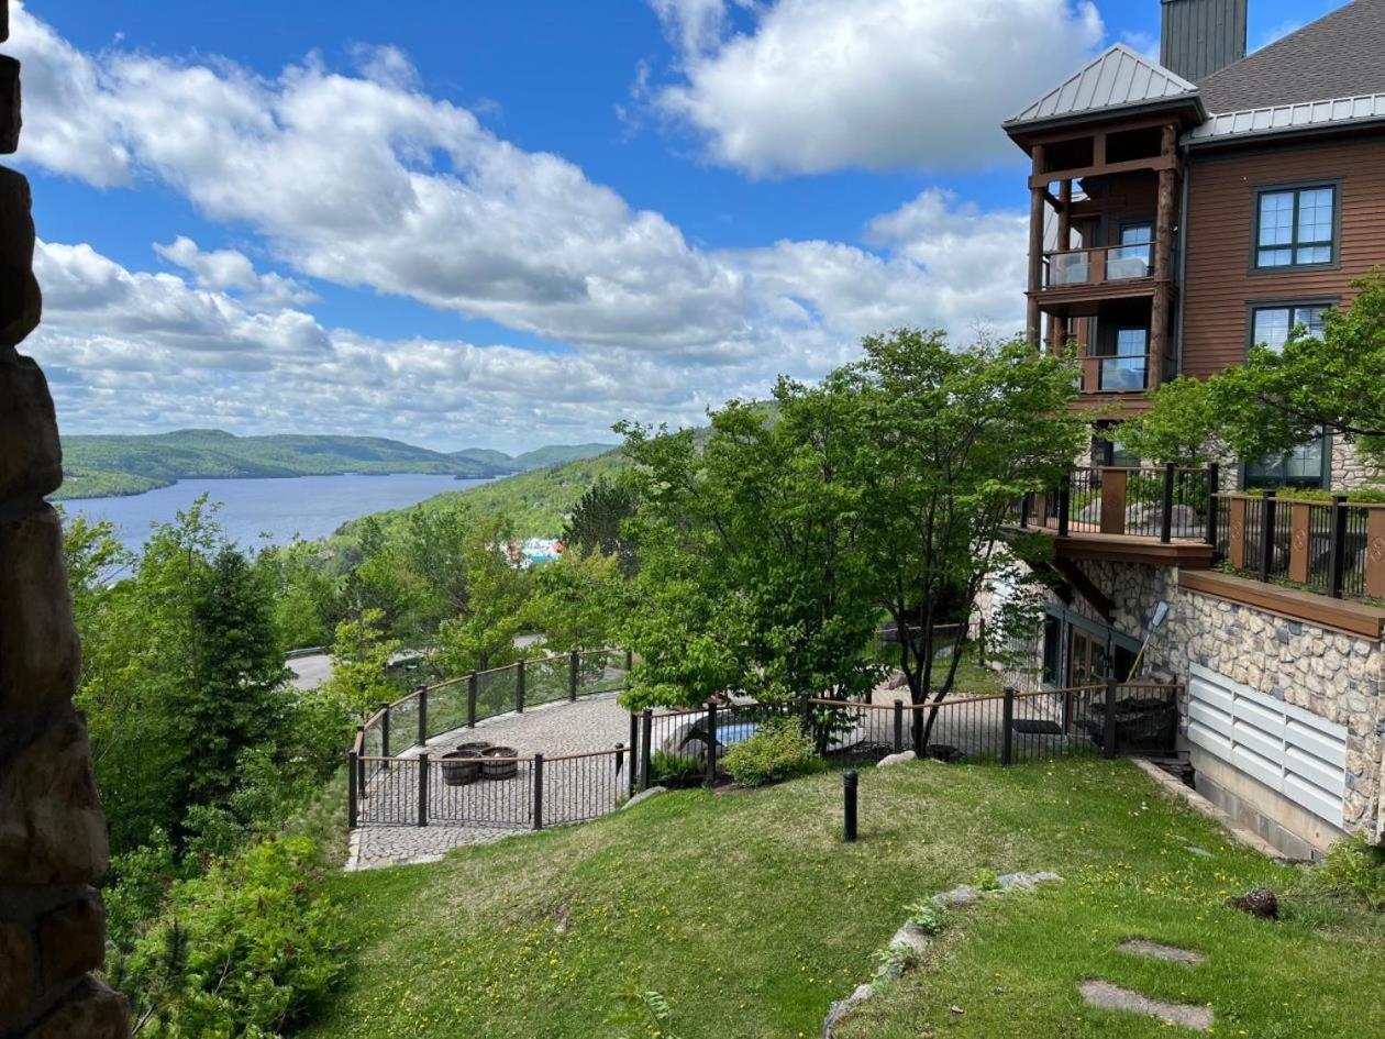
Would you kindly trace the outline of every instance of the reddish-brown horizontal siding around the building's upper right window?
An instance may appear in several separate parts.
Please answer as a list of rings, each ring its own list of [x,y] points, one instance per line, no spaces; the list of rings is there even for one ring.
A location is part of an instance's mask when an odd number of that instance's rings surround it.
[[[1341,180],[1339,266],[1252,273],[1255,191]],[[1188,163],[1183,281],[1183,371],[1210,375],[1245,360],[1246,303],[1352,295],[1349,283],[1385,263],[1385,137],[1204,157]]]

